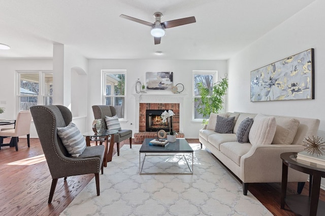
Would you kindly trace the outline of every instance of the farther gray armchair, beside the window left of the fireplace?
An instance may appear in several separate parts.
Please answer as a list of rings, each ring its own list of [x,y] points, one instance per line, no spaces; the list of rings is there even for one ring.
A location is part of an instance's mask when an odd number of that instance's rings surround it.
[[[115,107],[110,105],[93,105],[92,106],[93,116],[95,119],[103,119],[105,121],[105,116],[112,117],[116,115]],[[105,124],[105,129],[107,126]],[[114,143],[117,145],[117,156],[120,155],[120,142],[129,139],[130,148],[132,148],[132,130],[130,129],[120,129],[117,134],[114,134]]]

